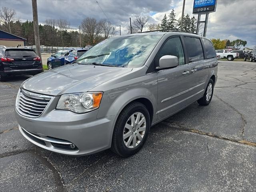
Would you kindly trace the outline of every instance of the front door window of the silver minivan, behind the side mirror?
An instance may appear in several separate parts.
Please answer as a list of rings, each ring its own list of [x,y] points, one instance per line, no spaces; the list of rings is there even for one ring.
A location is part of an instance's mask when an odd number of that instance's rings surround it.
[[[164,46],[162,46],[162,48],[156,55],[156,66],[159,66],[160,58],[165,55],[172,55],[178,57],[179,65],[183,65],[185,63],[183,48],[179,37],[170,38],[166,41]]]

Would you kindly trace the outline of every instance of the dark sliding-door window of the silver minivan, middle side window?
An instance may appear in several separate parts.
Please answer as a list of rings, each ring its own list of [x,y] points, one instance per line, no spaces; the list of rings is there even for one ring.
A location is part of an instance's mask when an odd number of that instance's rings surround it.
[[[200,39],[185,37],[184,41],[188,52],[188,61],[190,63],[204,60],[203,48]]]

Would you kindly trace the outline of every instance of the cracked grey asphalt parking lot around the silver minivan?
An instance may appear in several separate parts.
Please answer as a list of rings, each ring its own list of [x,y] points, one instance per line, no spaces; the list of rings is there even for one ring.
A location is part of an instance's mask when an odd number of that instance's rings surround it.
[[[38,148],[18,130],[16,94],[0,83],[0,191],[256,190],[256,63],[219,61],[212,102],[153,126],[130,158],[110,150],[72,157]]]

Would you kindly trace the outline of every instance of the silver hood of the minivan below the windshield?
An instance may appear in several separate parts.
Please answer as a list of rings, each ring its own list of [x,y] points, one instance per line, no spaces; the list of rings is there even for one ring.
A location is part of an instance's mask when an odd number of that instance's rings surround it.
[[[131,70],[132,68],[68,64],[33,76],[24,81],[21,87],[52,96],[86,92]]]

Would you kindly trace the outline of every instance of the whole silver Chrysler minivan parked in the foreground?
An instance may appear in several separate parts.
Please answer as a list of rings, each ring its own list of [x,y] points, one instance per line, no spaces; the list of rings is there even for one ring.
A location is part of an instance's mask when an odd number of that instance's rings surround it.
[[[75,62],[20,86],[22,135],[44,149],[88,155],[111,148],[128,157],[150,126],[197,101],[211,102],[218,60],[210,40],[182,32],[106,39]]]

